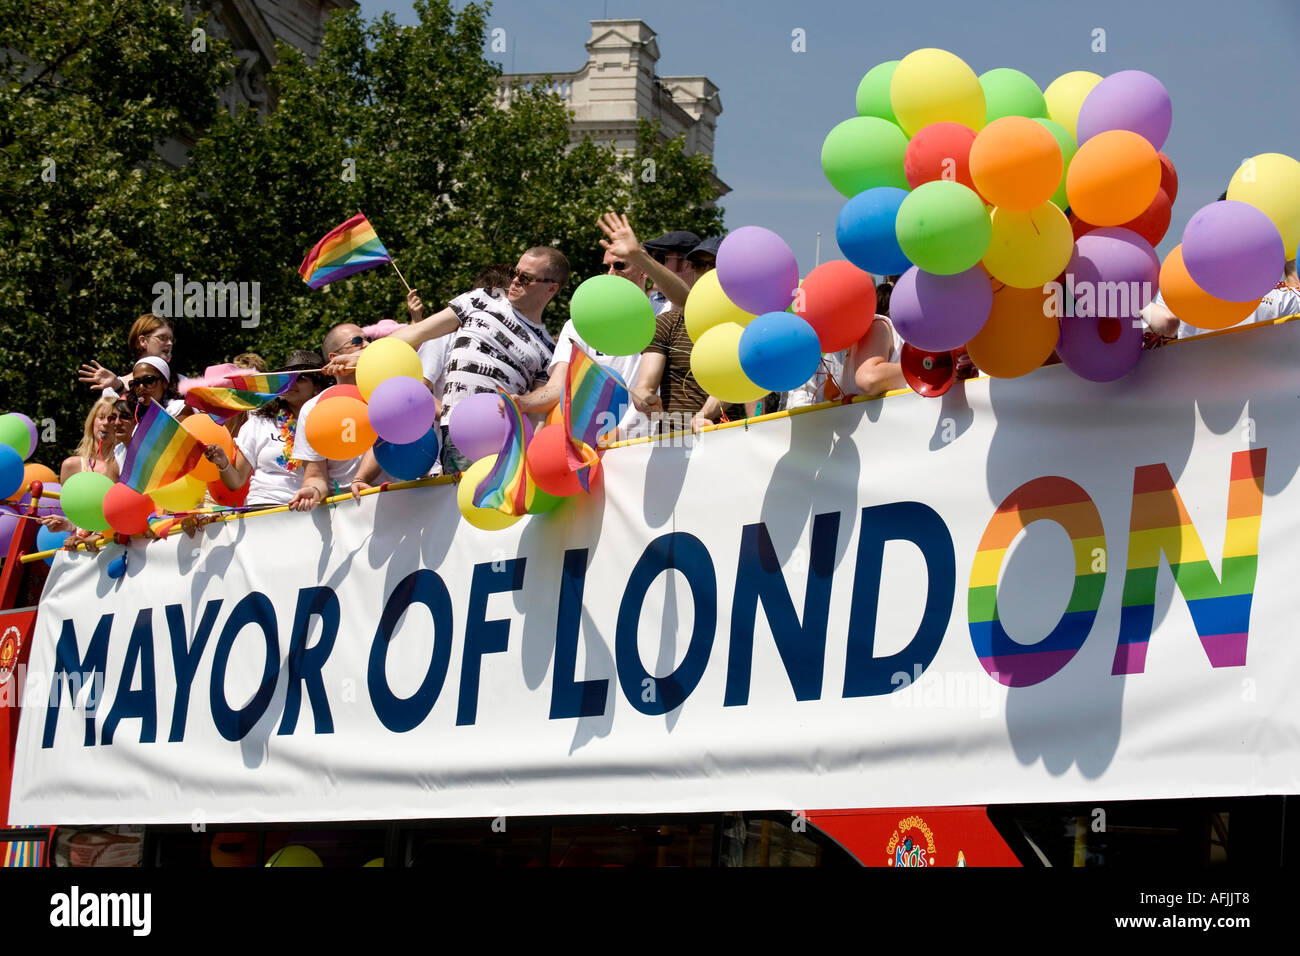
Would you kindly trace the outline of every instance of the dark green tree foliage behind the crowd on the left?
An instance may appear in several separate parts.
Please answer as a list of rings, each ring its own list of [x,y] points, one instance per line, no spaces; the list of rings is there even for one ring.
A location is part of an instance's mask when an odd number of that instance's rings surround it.
[[[25,53],[4,61],[0,94],[0,295],[16,333],[0,341],[0,394],[9,410],[55,418],[61,449],[90,398],[77,365],[122,369],[126,326],[176,273],[260,290],[256,328],[177,320],[174,364],[187,373],[240,351],[276,365],[342,321],[404,320],[390,267],[324,291],[298,277],[312,245],[359,209],[430,306],[489,263],[559,247],[575,278],[547,312],[552,328],[599,269],[604,209],[629,211],[646,238],[720,232],[710,161],[685,156],[680,139],[644,124],[636,153],[619,156],[572,144],[563,101],[542,90],[516,88],[502,108],[477,4],[417,0],[413,27],[335,14],[315,62],[277,49],[269,117],[217,108],[229,51],[209,40],[207,56],[191,52],[176,5],[74,4],[61,20],[22,5],[32,16],[0,26],[0,49]],[[194,147],[174,169],[153,146],[178,133]],[[53,183],[40,181],[44,156],[58,161]]]

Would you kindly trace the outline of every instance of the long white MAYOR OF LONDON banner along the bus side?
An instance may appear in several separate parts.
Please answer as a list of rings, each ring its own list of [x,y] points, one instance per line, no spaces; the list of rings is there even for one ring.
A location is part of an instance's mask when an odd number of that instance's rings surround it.
[[[1297,368],[1257,326],[616,449],[502,532],[437,486],[61,554],[10,822],[1300,792]]]

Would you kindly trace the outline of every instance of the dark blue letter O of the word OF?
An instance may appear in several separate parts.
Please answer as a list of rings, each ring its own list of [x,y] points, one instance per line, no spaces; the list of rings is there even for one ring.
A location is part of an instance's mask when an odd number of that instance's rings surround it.
[[[389,687],[385,663],[389,644],[396,631],[398,622],[412,604],[422,604],[433,617],[433,657],[424,682],[410,697],[398,697]],[[451,596],[442,579],[428,568],[412,571],[403,578],[389,594],[380,618],[380,627],[370,643],[370,662],[367,667],[367,685],[370,692],[370,705],[380,723],[394,734],[404,734],[417,727],[433,710],[442,682],[447,679],[451,663]]]

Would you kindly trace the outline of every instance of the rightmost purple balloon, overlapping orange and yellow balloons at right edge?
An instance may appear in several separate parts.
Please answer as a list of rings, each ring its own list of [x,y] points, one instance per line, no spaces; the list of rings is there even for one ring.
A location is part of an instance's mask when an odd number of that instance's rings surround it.
[[[1187,274],[1219,299],[1258,299],[1278,284],[1284,260],[1282,233],[1249,203],[1204,206],[1183,230]]]

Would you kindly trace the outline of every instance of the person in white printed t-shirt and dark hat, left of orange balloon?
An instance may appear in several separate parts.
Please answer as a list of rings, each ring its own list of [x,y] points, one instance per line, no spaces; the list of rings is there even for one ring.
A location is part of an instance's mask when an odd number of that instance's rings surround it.
[[[230,462],[220,445],[204,450],[221,471],[221,483],[237,490],[248,481],[247,505],[287,505],[303,484],[303,463],[294,453],[295,427],[303,406],[324,388],[325,376],[315,369],[321,356],[294,351],[283,372],[300,372],[294,385],[274,402],[252,412],[235,436],[239,459]]]

